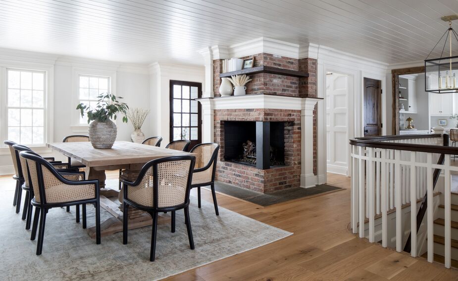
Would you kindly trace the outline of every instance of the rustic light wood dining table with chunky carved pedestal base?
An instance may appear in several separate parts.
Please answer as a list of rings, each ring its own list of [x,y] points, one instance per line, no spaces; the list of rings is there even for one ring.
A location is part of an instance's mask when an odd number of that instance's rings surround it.
[[[93,148],[90,142],[62,142],[47,144],[52,150],[59,152],[66,157],[80,161],[86,166],[86,178],[99,180],[100,206],[108,211],[112,218],[101,224],[101,235],[107,236],[122,231],[122,206],[118,198],[118,190],[105,185],[105,170],[124,169],[132,176],[136,176],[143,165],[151,160],[168,157],[193,155],[189,152],[182,152],[166,148],[160,148],[145,144],[138,144],[127,141],[116,141],[110,149]],[[89,171],[89,173],[88,173]],[[133,180],[132,178],[129,180]],[[117,188],[117,187],[116,187]],[[158,224],[170,222],[170,216],[161,214]],[[129,211],[129,229],[149,226],[152,224],[151,216],[141,210]],[[95,227],[88,228],[88,233],[95,238]]]

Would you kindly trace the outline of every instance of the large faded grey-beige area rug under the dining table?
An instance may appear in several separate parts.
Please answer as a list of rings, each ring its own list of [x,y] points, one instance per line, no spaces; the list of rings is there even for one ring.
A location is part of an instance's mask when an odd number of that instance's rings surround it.
[[[156,260],[149,261],[151,226],[129,230],[129,243],[122,233],[102,237],[97,245],[80,223],[75,208],[51,209],[46,219],[43,254],[35,255],[25,221],[15,213],[13,193],[4,189],[0,197],[0,280],[123,280],[153,281],[166,278],[250,249],[283,239],[292,233],[258,222],[213,204],[191,198],[190,216],[195,250],[189,248],[183,211],[176,213],[176,232],[170,225],[157,229]],[[102,209],[102,222],[110,214]],[[95,225],[95,212],[88,205],[88,227]]]

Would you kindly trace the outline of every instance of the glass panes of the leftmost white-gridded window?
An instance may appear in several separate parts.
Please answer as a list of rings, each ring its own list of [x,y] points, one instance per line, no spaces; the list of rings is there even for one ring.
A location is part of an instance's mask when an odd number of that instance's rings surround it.
[[[6,76],[7,139],[44,145],[46,72],[7,69]]]

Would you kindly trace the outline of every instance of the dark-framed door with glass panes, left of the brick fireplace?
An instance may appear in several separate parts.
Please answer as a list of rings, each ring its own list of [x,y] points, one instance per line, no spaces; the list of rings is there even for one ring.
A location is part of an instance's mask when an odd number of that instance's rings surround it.
[[[170,141],[191,140],[201,143],[201,110],[199,102],[202,83],[170,80]]]

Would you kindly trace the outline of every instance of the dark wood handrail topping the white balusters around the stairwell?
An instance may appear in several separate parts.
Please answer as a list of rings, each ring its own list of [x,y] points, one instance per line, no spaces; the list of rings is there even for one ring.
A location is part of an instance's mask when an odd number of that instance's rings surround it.
[[[410,136],[384,136],[384,137],[365,137],[351,139],[350,144],[362,147],[382,148],[382,149],[394,149],[403,151],[415,151],[415,152],[428,152],[438,154],[458,154],[458,147],[441,146],[441,145],[430,145],[430,144],[413,144],[413,143],[395,143],[388,142],[389,140],[403,140],[403,139],[415,139],[415,138],[438,138],[440,134],[427,134],[427,135],[410,135]],[[444,140],[449,140],[449,135],[443,135]]]

